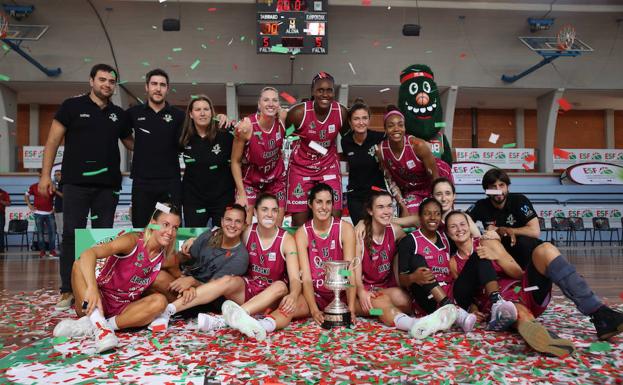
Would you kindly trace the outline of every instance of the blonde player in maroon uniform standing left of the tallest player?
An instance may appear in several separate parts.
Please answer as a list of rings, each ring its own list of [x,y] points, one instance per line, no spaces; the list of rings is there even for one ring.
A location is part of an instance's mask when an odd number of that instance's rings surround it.
[[[247,224],[253,221],[255,199],[262,192],[277,197],[281,225],[286,206],[286,170],[282,146],[285,129],[281,120],[279,93],[264,87],[257,102],[258,112],[236,126],[231,151],[231,173],[236,183],[236,203],[247,208]],[[285,113],[283,113],[285,117]]]

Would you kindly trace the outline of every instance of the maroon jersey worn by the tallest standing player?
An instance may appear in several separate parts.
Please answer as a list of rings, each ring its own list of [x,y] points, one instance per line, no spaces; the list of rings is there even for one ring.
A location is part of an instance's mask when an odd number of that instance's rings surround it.
[[[337,138],[342,128],[342,110],[338,102],[332,102],[327,117],[320,121],[314,111],[314,102],[305,102],[303,122],[297,133],[301,136],[300,145],[292,152],[290,161],[313,170],[321,170],[332,166],[337,161]],[[314,142],[314,144],[312,144]],[[320,146],[326,150],[315,150]]]

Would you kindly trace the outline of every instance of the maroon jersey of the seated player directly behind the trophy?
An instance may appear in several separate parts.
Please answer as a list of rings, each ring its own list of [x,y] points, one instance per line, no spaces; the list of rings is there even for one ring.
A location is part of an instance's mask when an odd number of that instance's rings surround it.
[[[314,295],[316,297],[321,297],[322,294],[327,296],[333,293],[324,286],[324,263],[326,261],[342,261],[344,259],[342,253],[342,237],[340,236],[342,220],[333,217],[331,220],[331,228],[328,233],[322,234],[324,237],[316,235],[313,229],[312,219],[305,223],[309,270],[311,272]]]

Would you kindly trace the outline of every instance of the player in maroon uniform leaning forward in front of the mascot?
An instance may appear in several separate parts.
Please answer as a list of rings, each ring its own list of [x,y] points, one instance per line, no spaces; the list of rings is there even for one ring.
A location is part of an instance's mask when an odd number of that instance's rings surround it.
[[[420,202],[430,196],[431,183],[440,171],[449,179],[452,174],[447,167],[438,167],[439,162],[444,162],[433,156],[427,142],[405,135],[405,118],[398,109],[390,106],[384,122],[386,139],[377,148],[377,157],[395,186],[392,192],[401,195],[401,216],[415,214]]]

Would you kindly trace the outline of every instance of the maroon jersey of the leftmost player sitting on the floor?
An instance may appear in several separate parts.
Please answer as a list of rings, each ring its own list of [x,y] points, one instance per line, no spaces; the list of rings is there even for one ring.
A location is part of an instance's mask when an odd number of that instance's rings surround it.
[[[111,255],[106,259],[97,276],[97,287],[104,296],[117,304],[136,301],[156,280],[163,259],[163,251],[154,257],[147,253],[141,234],[130,254]]]

